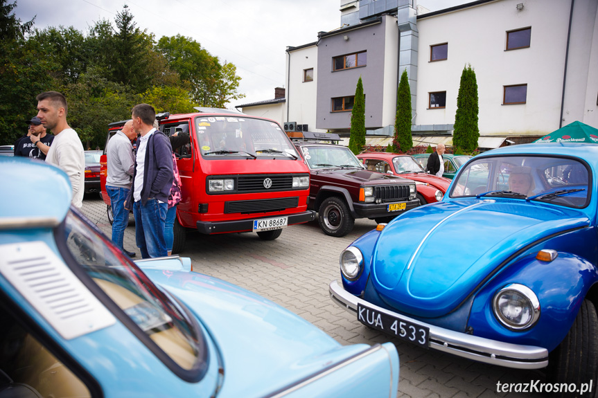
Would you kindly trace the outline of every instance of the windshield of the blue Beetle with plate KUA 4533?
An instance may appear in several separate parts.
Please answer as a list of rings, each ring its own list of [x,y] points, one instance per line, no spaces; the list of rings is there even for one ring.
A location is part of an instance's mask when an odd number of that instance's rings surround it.
[[[585,163],[556,156],[493,156],[468,163],[450,197],[509,197],[573,208],[587,206],[591,174]]]

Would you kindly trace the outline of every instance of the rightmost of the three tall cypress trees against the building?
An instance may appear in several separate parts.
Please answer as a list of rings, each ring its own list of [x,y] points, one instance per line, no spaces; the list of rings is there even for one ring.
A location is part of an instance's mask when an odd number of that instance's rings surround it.
[[[477,81],[471,64],[464,66],[457,96],[457,113],[455,114],[455,132],[452,145],[459,150],[471,153],[477,149],[477,138],[480,129],[477,127]]]

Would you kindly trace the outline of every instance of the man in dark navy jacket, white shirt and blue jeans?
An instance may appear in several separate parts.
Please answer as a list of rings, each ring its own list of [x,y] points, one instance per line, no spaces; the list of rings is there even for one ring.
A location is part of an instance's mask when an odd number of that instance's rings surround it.
[[[137,140],[133,185],[125,207],[133,205],[135,238],[141,257],[163,257],[168,255],[164,224],[173,186],[173,150],[168,137],[153,127],[154,107],[135,105],[132,119],[133,129],[141,137]]]

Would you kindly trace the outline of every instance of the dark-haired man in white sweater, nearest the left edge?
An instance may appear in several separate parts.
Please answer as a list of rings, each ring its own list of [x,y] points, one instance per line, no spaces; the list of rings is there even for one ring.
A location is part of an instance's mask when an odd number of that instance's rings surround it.
[[[71,181],[71,203],[83,207],[85,192],[85,150],[77,132],[67,123],[67,99],[57,91],[47,91],[37,96],[37,117],[42,125],[54,134],[54,141],[46,155],[46,163],[62,169]]]

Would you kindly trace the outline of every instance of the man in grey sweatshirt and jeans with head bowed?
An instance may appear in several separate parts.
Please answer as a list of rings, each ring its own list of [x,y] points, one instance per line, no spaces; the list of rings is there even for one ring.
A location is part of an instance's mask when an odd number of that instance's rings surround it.
[[[129,210],[125,209],[125,200],[129,196],[133,172],[135,170],[135,156],[132,140],[137,138],[133,129],[133,121],[129,120],[123,129],[116,132],[106,146],[107,177],[106,191],[112,206],[112,243],[121,248],[129,257],[135,257],[135,252],[126,251],[123,247],[125,228],[129,223]]]

